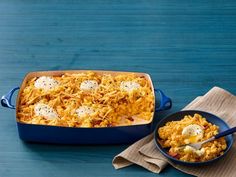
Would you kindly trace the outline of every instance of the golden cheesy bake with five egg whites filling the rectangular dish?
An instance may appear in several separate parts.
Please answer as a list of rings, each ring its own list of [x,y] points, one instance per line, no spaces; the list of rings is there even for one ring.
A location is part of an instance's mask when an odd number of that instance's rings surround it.
[[[20,94],[17,118],[28,124],[111,127],[148,123],[153,113],[146,77],[83,72],[30,79]]]

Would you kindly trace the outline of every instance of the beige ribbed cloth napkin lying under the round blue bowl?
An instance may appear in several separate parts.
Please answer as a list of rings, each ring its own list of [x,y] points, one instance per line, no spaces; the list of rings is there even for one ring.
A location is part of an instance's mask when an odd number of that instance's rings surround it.
[[[202,97],[197,97],[185,108],[213,113],[224,119],[231,127],[236,126],[236,96],[219,87],[212,88]],[[234,137],[235,140],[235,137]],[[134,143],[113,159],[115,169],[132,164],[140,165],[151,172],[160,173],[167,164],[176,169],[202,177],[236,176],[236,143],[223,159],[204,167],[187,167],[167,160],[156,148],[153,134]]]

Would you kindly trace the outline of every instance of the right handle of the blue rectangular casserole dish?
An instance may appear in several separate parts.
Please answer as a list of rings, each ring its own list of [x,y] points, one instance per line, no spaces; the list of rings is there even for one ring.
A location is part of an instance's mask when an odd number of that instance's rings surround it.
[[[172,107],[172,101],[169,97],[167,97],[160,89],[154,89],[156,93],[160,94],[160,106],[156,108],[156,112],[164,111],[170,109]]]

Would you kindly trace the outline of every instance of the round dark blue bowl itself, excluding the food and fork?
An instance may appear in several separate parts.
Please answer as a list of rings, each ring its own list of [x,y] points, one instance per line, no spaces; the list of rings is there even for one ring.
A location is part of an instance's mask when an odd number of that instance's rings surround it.
[[[167,157],[168,159],[170,159],[171,161],[177,163],[177,164],[181,164],[181,165],[188,165],[188,166],[199,166],[199,165],[206,165],[206,164],[210,164],[214,161],[217,161],[219,159],[221,159],[228,151],[229,149],[232,147],[233,145],[233,136],[232,135],[228,135],[225,137],[226,139],[226,143],[227,143],[227,149],[224,151],[224,154],[221,155],[221,156],[218,156],[214,159],[211,159],[209,161],[205,161],[205,162],[185,162],[185,161],[182,161],[182,160],[178,160],[176,158],[173,158],[172,156],[170,156],[168,154],[168,150],[166,148],[163,148],[161,146],[161,144],[159,143],[158,139],[160,139],[159,135],[158,135],[158,129],[162,126],[164,126],[167,122],[170,122],[170,121],[177,121],[177,120],[181,120],[184,118],[185,115],[191,115],[193,116],[194,114],[200,114],[202,115],[203,117],[206,118],[206,120],[208,122],[211,122],[212,124],[215,124],[217,126],[219,126],[219,131],[222,132],[222,131],[225,131],[227,129],[229,129],[230,127],[227,125],[227,123],[225,121],[223,121],[222,119],[220,119],[219,117],[211,114],[211,113],[208,113],[208,112],[204,112],[204,111],[198,111],[198,110],[186,110],[186,111],[179,111],[179,112],[176,112],[174,114],[171,114],[167,117],[165,117],[164,119],[162,119],[158,124],[157,124],[157,127],[154,131],[155,133],[155,142],[156,142],[156,146],[157,148],[161,151],[161,153]]]

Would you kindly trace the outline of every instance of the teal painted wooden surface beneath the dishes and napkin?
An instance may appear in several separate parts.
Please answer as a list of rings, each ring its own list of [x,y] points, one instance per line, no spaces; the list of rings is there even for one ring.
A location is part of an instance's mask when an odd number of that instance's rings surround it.
[[[2,0],[0,62],[0,95],[29,71],[140,71],[174,112],[215,85],[236,93],[236,2]],[[28,144],[14,111],[1,107],[0,119],[0,176],[188,176],[172,167],[116,171],[111,160],[127,145]]]

